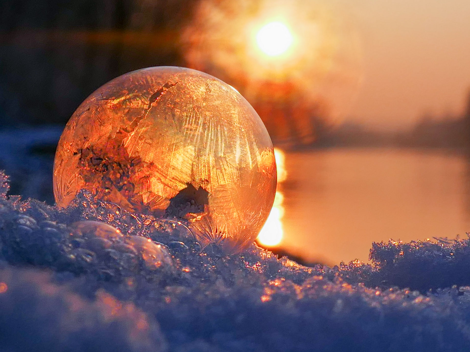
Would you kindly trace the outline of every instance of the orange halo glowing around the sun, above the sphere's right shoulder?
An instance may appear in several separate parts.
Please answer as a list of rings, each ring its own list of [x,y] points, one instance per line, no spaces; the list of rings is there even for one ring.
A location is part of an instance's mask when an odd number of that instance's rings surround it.
[[[312,119],[345,117],[361,77],[359,36],[347,12],[305,0],[198,3],[181,34],[188,67],[234,85],[274,142],[309,144]]]

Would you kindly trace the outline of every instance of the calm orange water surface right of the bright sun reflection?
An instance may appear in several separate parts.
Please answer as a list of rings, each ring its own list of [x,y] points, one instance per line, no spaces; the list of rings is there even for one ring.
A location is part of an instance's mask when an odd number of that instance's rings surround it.
[[[406,149],[285,153],[281,246],[335,265],[368,260],[373,241],[470,231],[469,161]]]

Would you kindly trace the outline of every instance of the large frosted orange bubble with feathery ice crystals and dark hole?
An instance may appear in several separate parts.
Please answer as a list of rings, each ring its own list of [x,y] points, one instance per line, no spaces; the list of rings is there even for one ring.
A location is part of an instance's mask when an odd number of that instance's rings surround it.
[[[251,105],[230,85],[179,67],[140,69],[91,94],[65,126],[54,196],[86,189],[158,218],[181,218],[201,244],[237,252],[273,205],[274,150]]]

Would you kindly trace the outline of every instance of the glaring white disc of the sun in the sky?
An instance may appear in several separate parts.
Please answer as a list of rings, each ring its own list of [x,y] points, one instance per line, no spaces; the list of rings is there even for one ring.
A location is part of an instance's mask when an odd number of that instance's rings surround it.
[[[278,56],[292,45],[292,34],[284,23],[271,22],[258,31],[256,42],[266,55]]]

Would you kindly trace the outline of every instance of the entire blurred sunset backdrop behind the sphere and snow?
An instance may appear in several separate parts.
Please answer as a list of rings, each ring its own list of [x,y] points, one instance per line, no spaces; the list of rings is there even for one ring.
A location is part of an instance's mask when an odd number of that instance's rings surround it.
[[[232,84],[276,147],[258,243],[304,263],[470,231],[467,0],[2,0],[0,168],[53,204],[65,123],[125,72]]]

